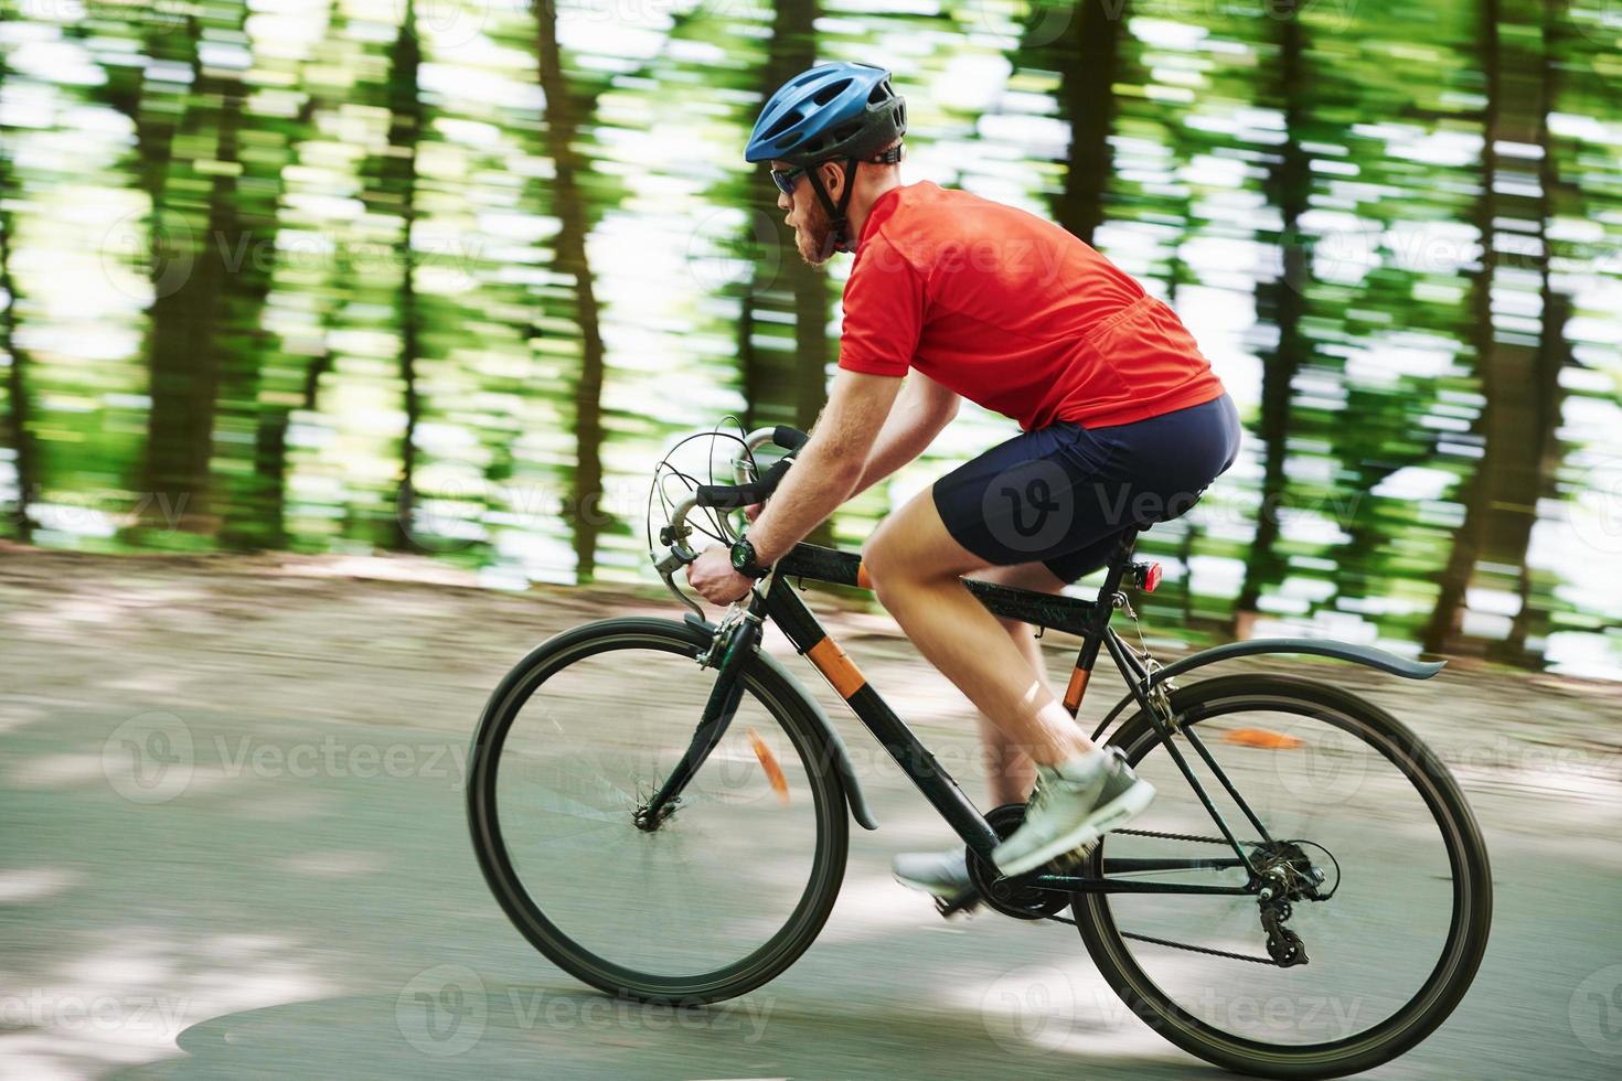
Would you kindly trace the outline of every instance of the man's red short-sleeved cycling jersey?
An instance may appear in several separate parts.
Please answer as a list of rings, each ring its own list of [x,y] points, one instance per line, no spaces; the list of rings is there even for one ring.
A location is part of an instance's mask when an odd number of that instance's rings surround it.
[[[1027,431],[1129,425],[1223,392],[1176,313],[1090,245],[929,182],[881,194],[861,227],[839,366],[916,368]]]

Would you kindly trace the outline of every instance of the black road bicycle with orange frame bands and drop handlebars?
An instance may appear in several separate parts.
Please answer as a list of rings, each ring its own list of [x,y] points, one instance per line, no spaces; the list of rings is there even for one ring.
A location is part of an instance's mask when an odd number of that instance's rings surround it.
[[[1116,611],[1137,621],[1127,585],[1158,582],[1158,566],[1134,561],[1137,530],[1095,600],[965,580],[994,614],[1082,639],[1064,695],[1072,716],[1108,652],[1129,692],[1093,739],[1109,731],[1108,746],[1160,793],[1134,828],[1074,865],[1004,878],[989,852],[1023,805],[981,814],[792,587],[866,587],[856,554],[800,545],[715,624],[675,585],[696,558],[689,515],[706,509],[717,527],[706,532],[733,535],[719,512],[764,501],[805,439],[762,428],[738,439],[738,483],[684,478],[691,491],[659,536],[668,551],[660,559],[650,543],[650,556],[694,614],[576,627],[491,694],[469,758],[469,820],[496,899],[534,946],[592,987],[663,1003],[741,995],[809,948],[843,880],[847,812],[878,823],[834,724],[759,648],[770,621],[963,840],[983,901],[1074,924],[1109,987],[1178,1047],[1241,1073],[1330,1078],[1388,1062],[1452,1013],[1486,950],[1492,883],[1447,767],[1333,684],[1270,673],[1176,682],[1273,653],[1408,679],[1442,663],[1270,639],[1163,666],[1111,627]],[[788,455],[757,475],[767,442]],[[1179,802],[1181,791],[1195,799]],[[1302,814],[1312,796],[1333,815]],[[1385,846],[1359,854],[1371,836]],[[1314,971],[1350,982],[1325,997]]]

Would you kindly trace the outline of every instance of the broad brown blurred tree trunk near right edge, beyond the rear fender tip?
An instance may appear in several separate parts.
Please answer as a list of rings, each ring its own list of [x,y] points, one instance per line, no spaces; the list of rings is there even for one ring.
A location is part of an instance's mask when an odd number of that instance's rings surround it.
[[[1483,452],[1463,493],[1465,520],[1442,569],[1435,609],[1424,632],[1431,652],[1492,653],[1521,663],[1534,660],[1526,656],[1531,595],[1526,554],[1538,498],[1557,460],[1559,371],[1565,360],[1565,305],[1549,285],[1547,222],[1555,183],[1547,128],[1552,62],[1547,41],[1536,32],[1546,23],[1547,13],[1531,0],[1486,0],[1483,8],[1487,107],[1476,203],[1483,256],[1473,288],[1476,376],[1486,399],[1474,429]],[[1541,162],[1530,165],[1523,157],[1500,154],[1505,143],[1541,147]],[[1521,194],[1528,190],[1536,194]],[[1543,313],[1536,337],[1494,326],[1492,293],[1517,282],[1530,284],[1531,277],[1517,266],[1525,264],[1523,258],[1504,266],[1499,232],[1507,220],[1530,222],[1525,235],[1538,248]],[[1513,590],[1520,598],[1510,634],[1497,645],[1465,634],[1468,592],[1474,585]]]

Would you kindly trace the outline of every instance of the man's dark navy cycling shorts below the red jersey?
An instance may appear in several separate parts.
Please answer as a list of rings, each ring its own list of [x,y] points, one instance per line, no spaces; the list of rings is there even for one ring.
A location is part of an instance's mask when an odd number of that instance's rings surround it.
[[[1223,394],[1131,425],[1020,433],[938,480],[934,506],[986,562],[1040,561],[1075,582],[1126,530],[1186,514],[1238,455],[1239,410]]]

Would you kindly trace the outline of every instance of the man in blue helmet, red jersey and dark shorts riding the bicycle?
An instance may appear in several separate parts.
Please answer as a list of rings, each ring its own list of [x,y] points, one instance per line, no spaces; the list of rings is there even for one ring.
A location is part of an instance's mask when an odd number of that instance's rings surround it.
[[[1178,316],[1066,230],[900,178],[907,105],[889,71],[827,63],[767,102],[744,152],[770,162],[813,266],[855,254],[839,371],[811,439],[733,551],[688,567],[715,605],[856,493],[916,459],[970,399],[1020,434],[890,514],[863,548],[879,601],[981,711],[998,804],[1027,802],[993,852],[1025,874],[1148,807],[1153,788],[1093,746],[1048,686],[1032,629],[960,577],[1058,593],[1122,532],[1186,512],[1239,447],[1233,400]],[[962,848],[897,856],[936,896],[968,888]]]

